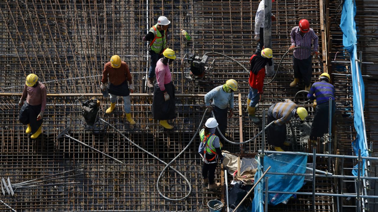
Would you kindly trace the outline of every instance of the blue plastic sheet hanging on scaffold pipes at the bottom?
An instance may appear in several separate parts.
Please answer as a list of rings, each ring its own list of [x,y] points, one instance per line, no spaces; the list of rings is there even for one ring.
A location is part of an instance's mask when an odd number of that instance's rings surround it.
[[[257,160],[257,157],[256,157]],[[258,170],[255,175],[257,181],[261,175],[261,164],[257,160]],[[283,155],[271,154],[264,157],[264,169],[271,166],[268,172],[287,172],[287,173],[305,173],[306,172],[307,155]],[[265,171],[265,170],[264,170]],[[296,192],[303,186],[304,176],[294,175],[271,175],[269,177],[268,190]],[[252,201],[252,212],[263,211],[261,208],[263,201],[265,201],[265,177],[262,183],[257,184],[254,190],[254,198]],[[269,204],[276,205],[282,201],[290,198],[291,194],[268,194]]]

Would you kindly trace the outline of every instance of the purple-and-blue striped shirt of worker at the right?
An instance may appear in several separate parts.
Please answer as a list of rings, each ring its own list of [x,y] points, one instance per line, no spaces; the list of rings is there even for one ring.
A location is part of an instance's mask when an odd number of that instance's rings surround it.
[[[335,100],[335,88],[332,84],[327,83],[325,80],[316,82],[311,86],[311,89],[307,94],[307,98],[310,100],[314,100],[316,98],[316,104],[328,103],[330,98]]]

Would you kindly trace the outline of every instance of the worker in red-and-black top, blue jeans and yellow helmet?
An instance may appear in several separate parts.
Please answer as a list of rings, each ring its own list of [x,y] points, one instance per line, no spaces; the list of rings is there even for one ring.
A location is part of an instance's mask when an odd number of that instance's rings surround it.
[[[268,63],[270,66],[272,61],[273,51],[270,48],[265,48],[260,54],[252,55],[251,69],[249,73],[249,94],[247,100],[248,117],[253,123],[259,123],[259,118],[255,115],[255,106],[259,101],[264,101],[263,83],[265,78],[265,65]]]

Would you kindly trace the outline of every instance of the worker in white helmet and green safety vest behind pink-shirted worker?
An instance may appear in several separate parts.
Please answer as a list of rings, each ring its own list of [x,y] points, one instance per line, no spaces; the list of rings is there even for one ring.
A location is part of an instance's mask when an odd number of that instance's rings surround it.
[[[163,58],[163,51],[167,44],[167,30],[170,21],[165,16],[158,18],[158,23],[153,25],[147,35],[143,37],[143,41],[149,41],[150,69],[148,72],[147,86],[154,87],[153,78],[155,77],[155,68],[158,60]]]

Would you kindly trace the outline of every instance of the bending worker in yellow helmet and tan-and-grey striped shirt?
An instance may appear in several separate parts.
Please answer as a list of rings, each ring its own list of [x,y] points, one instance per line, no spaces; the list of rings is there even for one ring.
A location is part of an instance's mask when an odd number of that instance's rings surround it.
[[[283,152],[282,145],[290,146],[286,140],[286,123],[291,117],[298,116],[301,120],[307,117],[305,108],[286,99],[285,102],[274,103],[268,110],[268,123],[274,121],[274,124],[268,128],[268,143],[274,146],[276,151]]]

